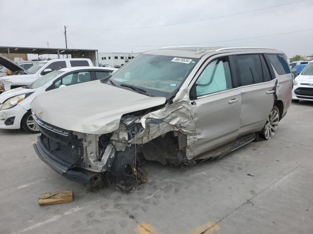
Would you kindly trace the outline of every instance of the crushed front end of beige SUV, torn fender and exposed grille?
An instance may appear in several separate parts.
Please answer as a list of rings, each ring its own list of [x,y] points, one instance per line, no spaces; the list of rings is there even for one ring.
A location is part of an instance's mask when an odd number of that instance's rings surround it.
[[[145,182],[145,160],[191,162],[195,124],[185,101],[123,115],[118,129],[87,134],[52,126],[33,113],[42,132],[34,148],[54,171],[86,186],[114,183],[130,191]]]

